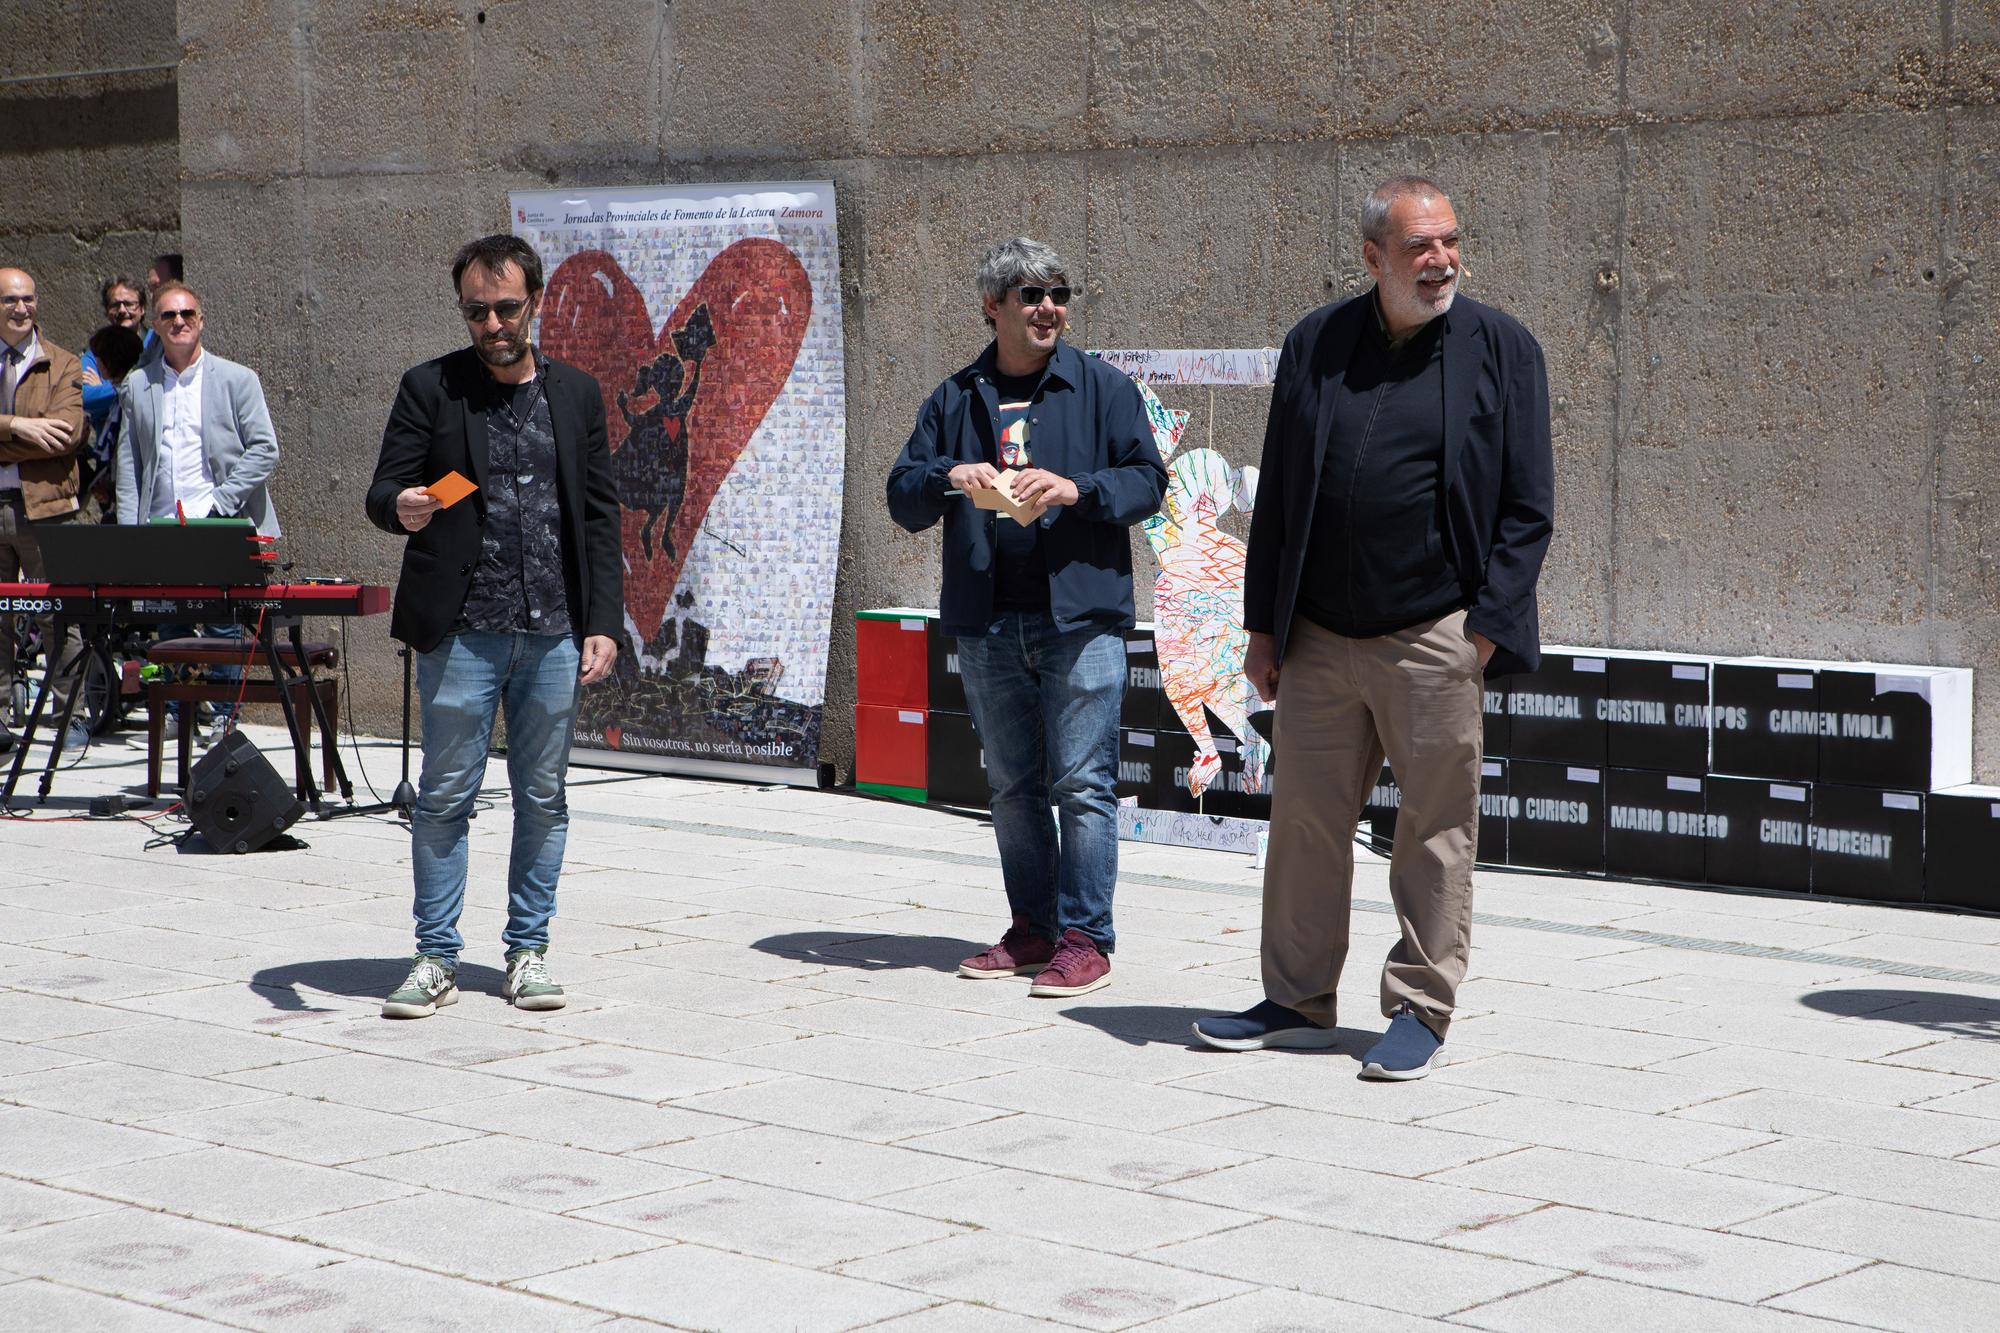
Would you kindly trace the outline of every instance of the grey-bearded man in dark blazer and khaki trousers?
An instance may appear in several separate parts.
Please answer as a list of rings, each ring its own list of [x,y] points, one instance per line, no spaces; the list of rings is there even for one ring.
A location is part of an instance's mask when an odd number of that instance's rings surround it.
[[[1458,296],[1458,216],[1398,176],[1362,206],[1374,290],[1284,340],[1244,570],[1244,675],[1278,703],[1264,1001],[1200,1019],[1226,1051],[1328,1047],[1354,825],[1388,755],[1402,787],[1372,1079],[1438,1063],[1472,945],[1482,675],[1540,660],[1554,530],[1542,348]]]

